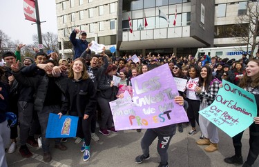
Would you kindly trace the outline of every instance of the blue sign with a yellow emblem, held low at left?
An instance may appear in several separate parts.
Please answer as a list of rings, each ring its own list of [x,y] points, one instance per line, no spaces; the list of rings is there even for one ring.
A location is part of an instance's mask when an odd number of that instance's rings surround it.
[[[50,113],[48,116],[48,126],[46,138],[75,137],[77,135],[78,117],[59,115]]]

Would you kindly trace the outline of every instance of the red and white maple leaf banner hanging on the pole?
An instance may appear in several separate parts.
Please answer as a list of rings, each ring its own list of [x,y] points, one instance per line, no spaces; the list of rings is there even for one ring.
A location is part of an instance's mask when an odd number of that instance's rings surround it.
[[[27,20],[36,22],[34,0],[23,0],[23,12]]]

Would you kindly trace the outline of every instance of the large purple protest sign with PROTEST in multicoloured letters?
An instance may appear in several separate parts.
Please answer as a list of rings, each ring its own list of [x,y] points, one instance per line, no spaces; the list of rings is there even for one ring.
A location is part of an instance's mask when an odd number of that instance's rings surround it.
[[[168,64],[133,77],[131,83],[133,103],[130,95],[110,102],[116,130],[158,128],[189,121],[184,108],[175,104],[178,90]]]

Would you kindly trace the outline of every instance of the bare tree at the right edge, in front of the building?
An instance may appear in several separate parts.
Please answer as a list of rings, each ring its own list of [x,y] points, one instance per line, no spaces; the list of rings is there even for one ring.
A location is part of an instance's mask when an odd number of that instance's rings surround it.
[[[259,2],[249,2],[247,11],[239,14],[240,15],[236,18],[233,36],[236,37],[240,43],[251,46],[252,49],[249,59],[252,59],[253,52],[257,51],[255,50],[256,45],[259,44],[259,40],[256,39],[259,36]]]

